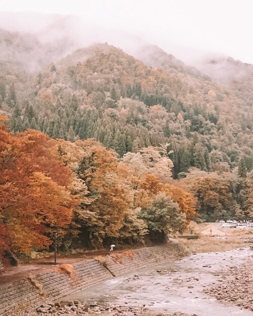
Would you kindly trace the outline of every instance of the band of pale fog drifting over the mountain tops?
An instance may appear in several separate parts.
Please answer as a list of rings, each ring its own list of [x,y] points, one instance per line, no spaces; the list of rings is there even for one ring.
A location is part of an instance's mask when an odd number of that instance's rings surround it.
[[[27,43],[29,40],[37,42],[36,45],[31,44],[29,54],[26,52],[27,56],[21,52],[18,53],[18,50],[15,52],[15,54],[19,54],[20,60],[30,71],[37,71],[42,65],[55,62],[76,49],[88,47],[96,42],[108,42],[148,65],[161,66],[162,50],[159,51],[157,47],[152,46],[153,43],[127,32],[89,25],[80,16],[36,12],[0,12],[0,28],[3,29],[2,34],[6,30],[19,33]],[[17,44],[19,39],[19,36],[16,35]],[[194,72],[198,69],[219,83],[228,84],[232,79],[242,78],[252,72],[251,65],[235,61],[232,57],[222,54],[204,53],[194,48],[190,50],[188,48],[184,55],[182,53],[185,51],[184,49],[181,50],[180,46],[175,48],[173,45],[171,45],[171,50],[180,52],[179,55],[183,57],[183,61],[189,62],[189,65],[192,66],[191,71]],[[175,58],[178,56],[171,55],[171,51],[166,51],[166,53],[170,55],[172,67],[186,68],[183,62]],[[2,46],[1,56],[4,57],[4,54],[6,51]],[[167,57],[166,62],[168,62]],[[195,70],[193,70],[194,67]]]

